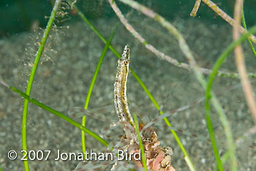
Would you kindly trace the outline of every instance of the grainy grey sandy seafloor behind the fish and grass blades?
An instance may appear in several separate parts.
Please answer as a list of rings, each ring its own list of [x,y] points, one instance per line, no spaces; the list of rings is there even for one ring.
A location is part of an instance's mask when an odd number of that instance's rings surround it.
[[[152,20],[141,16],[130,17],[129,21],[146,37],[146,40],[162,52],[187,62],[176,40]],[[110,31],[117,19],[94,20],[99,31],[109,37]],[[210,68],[217,56],[232,41],[232,29],[227,24],[217,25],[201,21],[200,18],[172,22],[184,35],[189,47],[196,56],[200,66]],[[26,83],[36,54],[37,45],[42,30],[33,33],[24,33],[0,41],[0,75],[10,85],[26,90]],[[113,37],[112,45],[121,53],[124,45],[131,47],[130,66],[139,75],[151,94],[162,105],[163,110],[173,110],[190,104],[203,96],[203,88],[197,82],[193,72],[181,69],[163,61],[146,50],[131,34],[119,26]],[[85,23],[71,23],[69,26],[54,28],[50,32],[44,55],[35,75],[31,96],[44,104],[48,104],[62,113],[67,113],[70,107],[80,106],[86,99],[94,69],[104,43],[94,34]],[[247,69],[253,71],[256,61],[252,56],[247,42],[244,42],[244,55]],[[99,75],[91,94],[89,109],[113,104],[113,83],[116,75],[117,58],[108,50]],[[236,72],[233,53],[228,57],[222,70]],[[252,88],[255,90],[255,78]],[[232,124],[235,140],[248,132],[254,126],[252,116],[244,99],[240,80],[236,78],[217,77],[214,82],[214,92]],[[21,157],[21,122],[23,99],[12,91],[0,86],[0,164],[2,170],[24,170]],[[157,115],[157,110],[146,93],[131,74],[128,78],[128,99],[130,106],[135,107],[136,113],[146,113],[149,118]],[[113,121],[117,120],[115,113],[108,113]],[[226,148],[225,134],[217,113],[212,113],[214,130],[219,145],[220,155],[223,156]],[[76,119],[76,121],[80,121]],[[204,104],[200,102],[187,110],[169,117],[170,123],[177,129],[184,129],[203,137],[208,137],[204,116]],[[109,123],[100,119],[88,118],[87,126],[99,133]],[[176,170],[189,170],[184,161],[176,140],[170,131],[162,126],[155,127],[162,145],[173,148],[172,164]],[[122,129],[119,129],[121,132]],[[114,134],[111,134],[112,137]],[[184,148],[189,153],[197,170],[213,170],[216,163],[211,150],[211,144],[178,134]],[[117,139],[116,139],[117,140]],[[52,151],[48,161],[29,161],[31,170],[73,170],[79,161],[55,161],[57,150],[63,152],[81,151],[80,130],[40,109],[29,104],[27,119],[27,143],[29,150]],[[238,170],[255,170],[256,168],[256,139],[255,134],[249,134],[246,139],[238,143],[237,159]],[[104,152],[105,146],[96,142],[92,137],[86,136],[87,149]],[[18,151],[18,158],[14,161],[7,159],[7,152]],[[229,167],[225,164],[225,170]]]

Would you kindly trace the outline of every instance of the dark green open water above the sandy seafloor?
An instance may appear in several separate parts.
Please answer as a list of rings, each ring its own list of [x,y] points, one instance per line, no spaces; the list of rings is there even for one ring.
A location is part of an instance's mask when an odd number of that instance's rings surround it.
[[[146,7],[153,9],[159,15],[162,15],[167,20],[173,20],[177,16],[179,18],[189,18],[189,12],[192,10],[195,1],[170,1],[170,0],[159,0],[159,1],[148,1],[139,0],[141,4],[145,4]],[[234,0],[222,0],[214,1],[222,10],[228,15],[233,16]],[[0,37],[6,37],[12,34],[19,34],[23,31],[30,31],[34,25],[45,28],[47,18],[52,10],[54,1],[39,1],[39,0],[2,0],[0,2]],[[113,18],[115,17],[114,12],[105,0],[83,0],[77,1],[78,7],[86,14],[88,18],[99,19],[99,18]],[[129,7],[121,4],[123,12],[127,12]],[[253,26],[256,20],[256,1],[246,0],[244,1],[244,13],[246,16],[246,24],[248,27]],[[69,18],[63,16],[59,20]],[[225,23],[222,18],[214,15],[214,12],[209,9],[206,4],[202,3],[199,11],[197,12],[197,18],[200,20],[211,20],[212,23]],[[72,20],[69,18],[67,22],[79,21],[80,18],[73,17]]]

